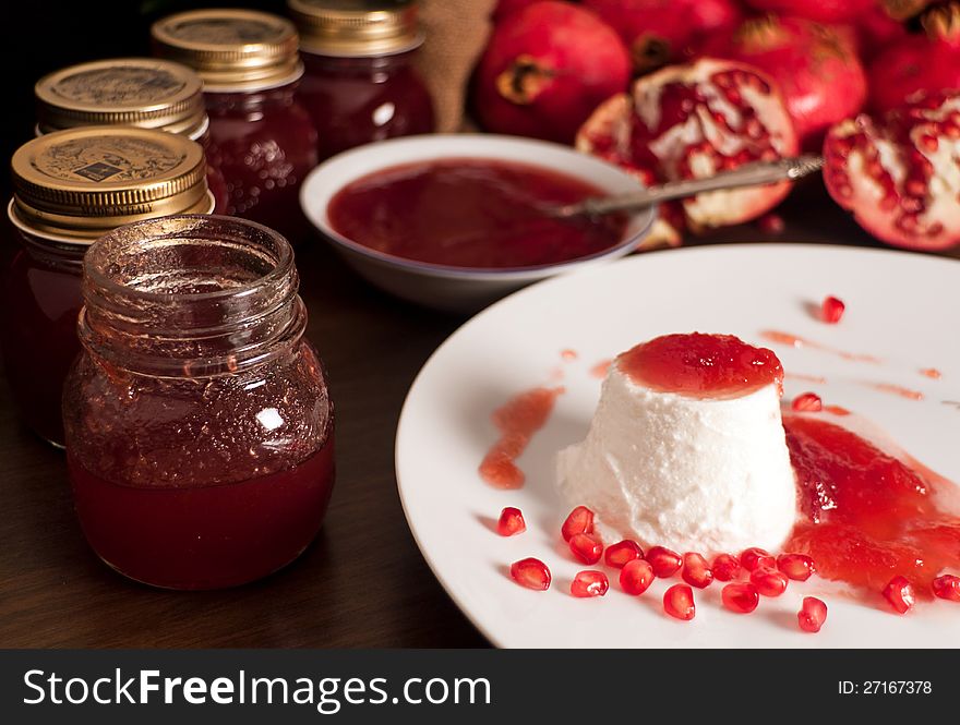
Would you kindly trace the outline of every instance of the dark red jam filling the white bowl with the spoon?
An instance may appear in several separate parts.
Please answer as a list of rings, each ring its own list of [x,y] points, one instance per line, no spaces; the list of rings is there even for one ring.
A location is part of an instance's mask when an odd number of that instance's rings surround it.
[[[333,228],[405,259],[465,268],[536,267],[591,256],[623,238],[625,220],[560,220],[543,207],[602,195],[548,169],[489,159],[397,166],[343,189]]]

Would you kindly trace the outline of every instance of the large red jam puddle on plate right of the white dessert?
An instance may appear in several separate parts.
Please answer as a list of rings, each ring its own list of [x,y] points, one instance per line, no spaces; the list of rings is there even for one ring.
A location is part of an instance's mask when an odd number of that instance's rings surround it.
[[[935,474],[818,418],[783,425],[803,517],[787,551],[808,554],[828,579],[875,592],[907,577],[925,597],[943,569],[960,567],[960,516],[938,507]]]

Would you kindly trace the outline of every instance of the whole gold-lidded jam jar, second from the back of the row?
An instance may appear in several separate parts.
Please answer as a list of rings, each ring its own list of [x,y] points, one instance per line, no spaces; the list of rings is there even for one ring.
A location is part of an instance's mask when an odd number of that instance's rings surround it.
[[[295,92],[303,64],[286,19],[252,10],[197,10],[152,28],[156,55],[204,83],[211,162],[224,174],[226,212],[299,234],[299,186],[316,166],[316,131]]]

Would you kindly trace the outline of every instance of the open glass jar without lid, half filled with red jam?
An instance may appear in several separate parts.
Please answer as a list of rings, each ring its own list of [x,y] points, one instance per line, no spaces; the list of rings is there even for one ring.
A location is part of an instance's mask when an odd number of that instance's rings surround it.
[[[67,454],[84,534],[127,577],[231,587],[316,535],[334,419],[297,287],[287,241],[232,217],[143,221],[87,253]]]

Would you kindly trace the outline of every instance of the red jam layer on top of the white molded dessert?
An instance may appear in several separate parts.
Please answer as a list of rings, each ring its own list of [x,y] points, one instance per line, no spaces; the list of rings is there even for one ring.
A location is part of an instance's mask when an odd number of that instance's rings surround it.
[[[616,364],[637,385],[697,398],[746,395],[783,383],[783,367],[771,350],[732,335],[664,335],[627,350]]]

